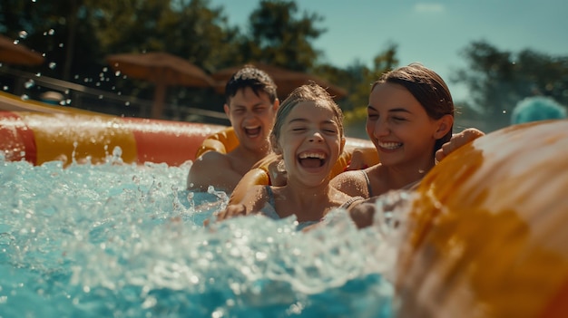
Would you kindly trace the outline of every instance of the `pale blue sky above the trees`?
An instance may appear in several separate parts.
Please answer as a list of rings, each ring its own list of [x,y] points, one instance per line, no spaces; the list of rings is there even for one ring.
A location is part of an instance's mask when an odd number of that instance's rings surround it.
[[[211,0],[222,5],[230,24],[245,25],[260,0]],[[568,55],[568,1],[565,0],[297,0],[299,12],[324,17],[327,28],[313,44],[325,60],[339,67],[358,60],[370,63],[396,43],[400,64],[424,63],[450,86],[455,100],[467,92],[449,82],[465,67],[460,52],[472,41],[485,40],[499,50],[530,48]]]

